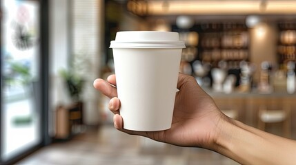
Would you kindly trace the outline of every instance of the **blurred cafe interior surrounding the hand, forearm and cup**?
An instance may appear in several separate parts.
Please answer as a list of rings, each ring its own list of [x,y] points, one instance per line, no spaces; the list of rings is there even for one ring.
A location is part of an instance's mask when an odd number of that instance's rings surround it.
[[[221,111],[296,140],[296,1],[1,0],[0,164],[237,164],[114,129],[92,83],[124,30],[179,32]]]

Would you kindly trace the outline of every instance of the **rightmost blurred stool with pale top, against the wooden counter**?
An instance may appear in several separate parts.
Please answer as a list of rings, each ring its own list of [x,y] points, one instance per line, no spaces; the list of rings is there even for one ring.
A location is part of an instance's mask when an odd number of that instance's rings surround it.
[[[282,123],[282,134],[284,137],[290,138],[291,135],[291,121],[290,121],[290,107],[282,106],[282,108],[269,108],[266,104],[259,106],[258,129],[266,131],[266,124]]]

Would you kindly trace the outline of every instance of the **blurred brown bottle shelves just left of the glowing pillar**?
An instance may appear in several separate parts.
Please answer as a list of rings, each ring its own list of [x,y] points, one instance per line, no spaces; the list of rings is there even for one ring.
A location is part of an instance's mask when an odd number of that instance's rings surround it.
[[[224,23],[201,25],[200,58],[217,67],[226,61],[228,67],[239,67],[248,61],[248,31],[244,24]]]

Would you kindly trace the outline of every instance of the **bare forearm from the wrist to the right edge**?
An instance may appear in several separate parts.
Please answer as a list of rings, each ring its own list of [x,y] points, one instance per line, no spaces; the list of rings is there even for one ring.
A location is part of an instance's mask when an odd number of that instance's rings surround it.
[[[215,150],[241,164],[295,164],[296,143],[235,120],[220,124]]]

